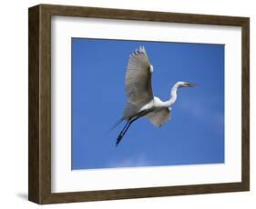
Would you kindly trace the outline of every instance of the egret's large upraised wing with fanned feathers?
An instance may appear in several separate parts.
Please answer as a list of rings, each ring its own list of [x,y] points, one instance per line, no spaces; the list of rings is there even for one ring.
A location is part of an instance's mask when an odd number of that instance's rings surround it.
[[[126,74],[126,94],[131,104],[141,104],[153,99],[151,73],[153,66],[149,64],[144,46],[132,53],[128,60]]]

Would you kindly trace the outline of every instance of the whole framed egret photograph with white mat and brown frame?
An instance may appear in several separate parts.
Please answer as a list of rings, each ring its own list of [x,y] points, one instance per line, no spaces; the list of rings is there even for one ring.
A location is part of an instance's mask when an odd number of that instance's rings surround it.
[[[28,14],[30,201],[249,191],[248,17]]]

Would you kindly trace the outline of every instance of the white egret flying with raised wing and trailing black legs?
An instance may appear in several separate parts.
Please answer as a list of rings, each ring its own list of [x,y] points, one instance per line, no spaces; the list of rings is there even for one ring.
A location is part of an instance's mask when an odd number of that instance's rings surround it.
[[[125,82],[128,104],[118,124],[123,120],[127,121],[127,123],[120,134],[118,134],[116,146],[118,146],[123,136],[127,133],[129,126],[140,117],[147,117],[157,127],[169,121],[171,105],[177,99],[179,87],[195,86],[188,82],[179,81],[173,85],[169,100],[163,102],[159,97],[153,95],[151,86],[152,73],[153,65],[150,65],[147,52],[144,46],[139,46],[138,50],[132,53],[128,59]]]

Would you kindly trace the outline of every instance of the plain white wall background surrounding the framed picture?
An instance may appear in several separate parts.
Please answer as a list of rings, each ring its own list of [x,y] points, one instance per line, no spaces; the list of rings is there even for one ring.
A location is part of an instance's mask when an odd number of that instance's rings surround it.
[[[251,192],[52,204],[46,208],[253,208],[256,198],[256,82],[254,1],[223,0],[73,0],[2,1],[0,6],[0,205],[1,208],[39,208],[27,198],[27,8],[37,4],[87,5],[251,17]],[[5,206],[4,206],[5,205]],[[255,206],[254,206],[255,207]]]

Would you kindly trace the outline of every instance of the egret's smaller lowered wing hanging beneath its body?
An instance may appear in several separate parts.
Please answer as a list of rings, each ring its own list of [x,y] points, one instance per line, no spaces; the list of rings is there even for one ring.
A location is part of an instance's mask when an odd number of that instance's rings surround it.
[[[170,120],[170,111],[169,108],[165,108],[160,111],[154,111],[146,114],[146,117],[152,124],[160,127],[162,124],[165,124]]]

